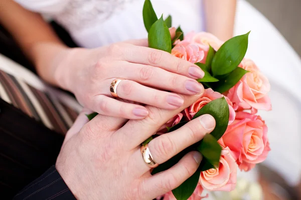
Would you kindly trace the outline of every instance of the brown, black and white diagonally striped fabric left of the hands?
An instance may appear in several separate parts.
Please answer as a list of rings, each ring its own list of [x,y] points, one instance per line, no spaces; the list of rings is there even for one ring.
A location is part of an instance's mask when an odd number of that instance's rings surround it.
[[[48,128],[66,133],[78,113],[53,94],[0,70],[0,97]]]

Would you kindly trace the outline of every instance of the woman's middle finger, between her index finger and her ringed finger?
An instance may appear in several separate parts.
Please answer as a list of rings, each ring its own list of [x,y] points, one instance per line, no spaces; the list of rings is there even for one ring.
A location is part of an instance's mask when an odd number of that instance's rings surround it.
[[[193,78],[151,65],[117,61],[115,63],[115,71],[114,75],[117,77],[183,94],[196,94],[203,89],[203,86]]]

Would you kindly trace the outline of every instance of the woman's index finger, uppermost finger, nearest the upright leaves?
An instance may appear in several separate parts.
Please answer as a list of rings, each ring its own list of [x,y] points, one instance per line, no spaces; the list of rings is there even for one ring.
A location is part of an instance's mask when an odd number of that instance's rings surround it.
[[[135,45],[126,48],[130,50],[124,51],[120,57],[125,61],[161,67],[194,79],[204,77],[205,73],[198,65],[176,57],[169,52]]]

